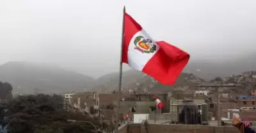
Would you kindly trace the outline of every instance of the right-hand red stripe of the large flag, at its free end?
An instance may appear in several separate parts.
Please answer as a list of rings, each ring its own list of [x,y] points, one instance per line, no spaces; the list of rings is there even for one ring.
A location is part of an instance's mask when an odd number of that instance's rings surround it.
[[[156,43],[160,49],[142,71],[164,85],[174,85],[175,80],[188,64],[189,54],[164,41]]]

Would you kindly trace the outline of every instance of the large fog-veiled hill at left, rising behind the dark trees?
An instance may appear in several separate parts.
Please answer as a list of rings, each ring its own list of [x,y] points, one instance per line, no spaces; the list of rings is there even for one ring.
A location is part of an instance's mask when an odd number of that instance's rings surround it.
[[[8,62],[0,66],[0,81],[12,84],[13,94],[61,94],[84,90],[92,85],[94,79],[59,67]]]

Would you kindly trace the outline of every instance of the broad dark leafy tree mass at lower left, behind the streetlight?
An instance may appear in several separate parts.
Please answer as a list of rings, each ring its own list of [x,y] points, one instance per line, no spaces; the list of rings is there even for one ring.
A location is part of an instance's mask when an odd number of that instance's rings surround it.
[[[67,120],[92,122],[97,128],[100,124],[82,113],[63,110],[61,95],[19,96],[8,102],[8,128],[12,133],[78,133],[95,132],[88,123],[68,123]]]

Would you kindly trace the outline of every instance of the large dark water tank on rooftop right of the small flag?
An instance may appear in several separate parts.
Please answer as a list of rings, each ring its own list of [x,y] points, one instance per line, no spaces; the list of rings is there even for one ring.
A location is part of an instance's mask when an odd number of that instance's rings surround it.
[[[198,105],[193,100],[184,100],[179,105],[179,123],[188,125],[200,124]]]

